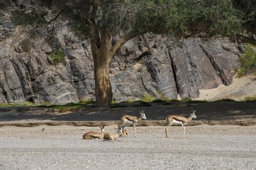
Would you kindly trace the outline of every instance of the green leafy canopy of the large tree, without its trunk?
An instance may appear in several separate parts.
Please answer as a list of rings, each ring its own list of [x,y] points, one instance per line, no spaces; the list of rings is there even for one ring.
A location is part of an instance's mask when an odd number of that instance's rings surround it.
[[[83,38],[92,32],[102,32],[106,27],[112,36],[140,35],[144,32],[168,33],[172,36],[192,36],[199,32],[235,36],[241,32],[244,22],[243,12],[234,8],[232,0],[38,2],[39,5],[33,5],[29,12],[13,12],[12,21],[17,25],[47,25],[60,14],[61,19],[69,21],[71,30]]]

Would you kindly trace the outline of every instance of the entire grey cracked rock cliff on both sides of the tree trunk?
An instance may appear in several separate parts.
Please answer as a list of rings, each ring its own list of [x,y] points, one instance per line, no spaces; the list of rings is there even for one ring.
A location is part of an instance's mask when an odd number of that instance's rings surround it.
[[[64,28],[51,39],[43,30],[26,34],[8,20],[0,23],[0,104],[94,100],[89,42]],[[49,55],[56,49],[65,59],[54,65]],[[145,93],[161,99],[199,97],[199,90],[232,83],[239,54],[228,39],[176,42],[152,34],[131,39],[111,64],[113,99],[140,100]]]

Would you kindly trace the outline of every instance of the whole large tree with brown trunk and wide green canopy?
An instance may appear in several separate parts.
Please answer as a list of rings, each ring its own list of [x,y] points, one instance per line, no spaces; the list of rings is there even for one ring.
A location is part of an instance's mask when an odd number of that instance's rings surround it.
[[[9,2],[10,0],[5,0]],[[109,65],[121,46],[147,32],[177,38],[220,34],[235,37],[243,30],[244,11],[232,0],[35,0],[30,8],[12,12],[16,24],[55,26],[67,22],[71,31],[90,39],[97,107],[109,107],[112,87]],[[6,3],[8,4],[8,3]]]

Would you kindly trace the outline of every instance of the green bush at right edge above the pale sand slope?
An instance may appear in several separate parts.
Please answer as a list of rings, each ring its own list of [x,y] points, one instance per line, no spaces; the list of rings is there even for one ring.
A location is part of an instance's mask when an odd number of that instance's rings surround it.
[[[256,47],[247,44],[244,53],[238,59],[241,66],[237,70],[237,76],[245,76],[247,74],[256,75]]]

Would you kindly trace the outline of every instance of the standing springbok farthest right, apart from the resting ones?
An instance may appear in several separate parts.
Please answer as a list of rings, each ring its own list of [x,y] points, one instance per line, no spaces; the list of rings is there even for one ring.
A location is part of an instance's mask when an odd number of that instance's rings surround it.
[[[183,132],[184,132],[184,137],[186,137],[185,136],[185,124],[187,124],[189,121],[192,121],[192,118],[196,118],[195,110],[192,110],[192,112],[188,118],[183,117],[183,116],[173,115],[173,114],[168,115],[166,117],[167,127],[165,128],[166,138],[168,138],[168,128],[171,127],[171,124],[181,124],[182,128],[183,128]]]

